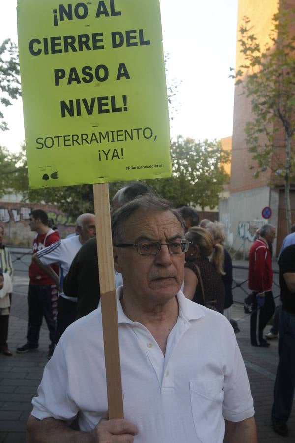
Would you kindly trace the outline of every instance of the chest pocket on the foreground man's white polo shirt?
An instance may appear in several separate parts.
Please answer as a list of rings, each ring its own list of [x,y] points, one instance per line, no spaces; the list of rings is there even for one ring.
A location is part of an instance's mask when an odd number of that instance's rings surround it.
[[[202,443],[223,442],[223,383],[223,376],[189,382],[194,426]]]

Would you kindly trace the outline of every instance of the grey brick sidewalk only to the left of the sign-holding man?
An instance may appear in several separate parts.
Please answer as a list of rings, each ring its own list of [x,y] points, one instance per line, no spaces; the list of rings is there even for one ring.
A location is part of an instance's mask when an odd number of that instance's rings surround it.
[[[31,399],[47,363],[49,335],[41,328],[39,348],[35,352],[17,354],[16,348],[26,342],[27,335],[27,277],[14,278],[8,346],[12,357],[0,354],[0,443],[25,443],[26,422]]]

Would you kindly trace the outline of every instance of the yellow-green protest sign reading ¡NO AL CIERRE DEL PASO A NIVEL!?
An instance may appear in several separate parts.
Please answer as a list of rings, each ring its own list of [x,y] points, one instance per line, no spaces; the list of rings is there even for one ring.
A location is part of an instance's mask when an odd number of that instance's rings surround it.
[[[159,0],[19,0],[29,184],[171,175]]]

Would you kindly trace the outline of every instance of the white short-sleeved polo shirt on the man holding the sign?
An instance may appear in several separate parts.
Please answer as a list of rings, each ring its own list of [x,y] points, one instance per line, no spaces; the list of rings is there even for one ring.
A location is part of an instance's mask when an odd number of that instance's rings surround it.
[[[135,443],[222,443],[224,419],[254,415],[233,328],[221,314],[177,294],[179,316],[165,356],[147,328],[123,313],[117,289],[124,417]],[[71,324],[45,367],[32,415],[90,431],[107,411],[100,308]]]

